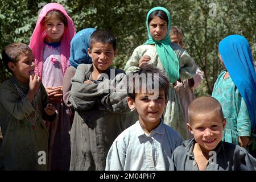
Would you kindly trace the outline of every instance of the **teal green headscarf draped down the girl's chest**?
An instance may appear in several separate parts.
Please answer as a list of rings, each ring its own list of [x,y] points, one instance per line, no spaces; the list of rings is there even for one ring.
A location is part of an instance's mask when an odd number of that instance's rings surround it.
[[[163,40],[154,40],[152,36],[150,35],[150,30],[148,27],[148,16],[153,11],[156,10],[162,10],[164,13],[167,14],[168,16],[168,28],[167,28],[167,33],[166,36],[164,37]],[[148,40],[144,44],[154,44],[156,47],[156,51],[158,52],[158,55],[160,57],[160,61],[164,67],[164,69],[167,72],[167,76],[170,78],[170,81],[173,83],[177,79],[179,79],[180,74],[179,74],[179,60],[177,59],[176,53],[174,50],[171,48],[171,39],[169,36],[170,28],[171,28],[171,15],[167,9],[164,7],[154,7],[147,13],[147,20],[146,20],[146,26],[147,26],[147,31],[148,31]]]

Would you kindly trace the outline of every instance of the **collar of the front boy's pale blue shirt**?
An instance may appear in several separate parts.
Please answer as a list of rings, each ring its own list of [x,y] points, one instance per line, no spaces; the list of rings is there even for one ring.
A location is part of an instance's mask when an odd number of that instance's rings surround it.
[[[147,137],[153,137],[155,134],[163,135],[164,132],[165,132],[165,131],[164,131],[164,123],[163,123],[162,118],[160,118],[160,119],[161,119],[160,124],[159,124],[158,127],[156,127],[154,130],[151,130],[150,135],[147,135],[147,134],[143,131],[141,125],[139,124],[139,121],[137,121],[137,122],[135,123],[136,136],[137,136],[137,137],[140,137],[140,136],[142,136],[142,135],[146,135]]]

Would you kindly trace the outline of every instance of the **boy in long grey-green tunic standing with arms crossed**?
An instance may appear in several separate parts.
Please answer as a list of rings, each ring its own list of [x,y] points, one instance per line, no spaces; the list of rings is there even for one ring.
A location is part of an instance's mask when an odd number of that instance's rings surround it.
[[[72,78],[69,101],[75,107],[71,129],[71,170],[104,170],[114,139],[122,132],[127,93],[115,92],[125,73],[110,69],[117,55],[115,36],[96,30],[88,54],[93,64],[80,64]]]

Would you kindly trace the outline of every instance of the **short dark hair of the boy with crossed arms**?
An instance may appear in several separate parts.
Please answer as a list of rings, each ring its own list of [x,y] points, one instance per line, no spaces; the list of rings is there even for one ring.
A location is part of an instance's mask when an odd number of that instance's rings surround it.
[[[115,36],[107,30],[96,30],[90,36],[89,48],[92,49],[93,44],[96,42],[112,44],[113,49],[117,49],[117,39]]]

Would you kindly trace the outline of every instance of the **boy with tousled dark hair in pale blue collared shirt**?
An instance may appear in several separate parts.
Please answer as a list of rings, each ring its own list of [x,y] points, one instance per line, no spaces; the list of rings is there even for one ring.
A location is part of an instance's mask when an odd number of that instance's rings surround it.
[[[131,80],[134,74],[142,79]],[[114,140],[106,170],[169,170],[172,152],[182,144],[183,138],[161,118],[167,103],[168,77],[146,64],[130,73],[127,82],[127,101],[130,109],[138,112],[139,121]]]

